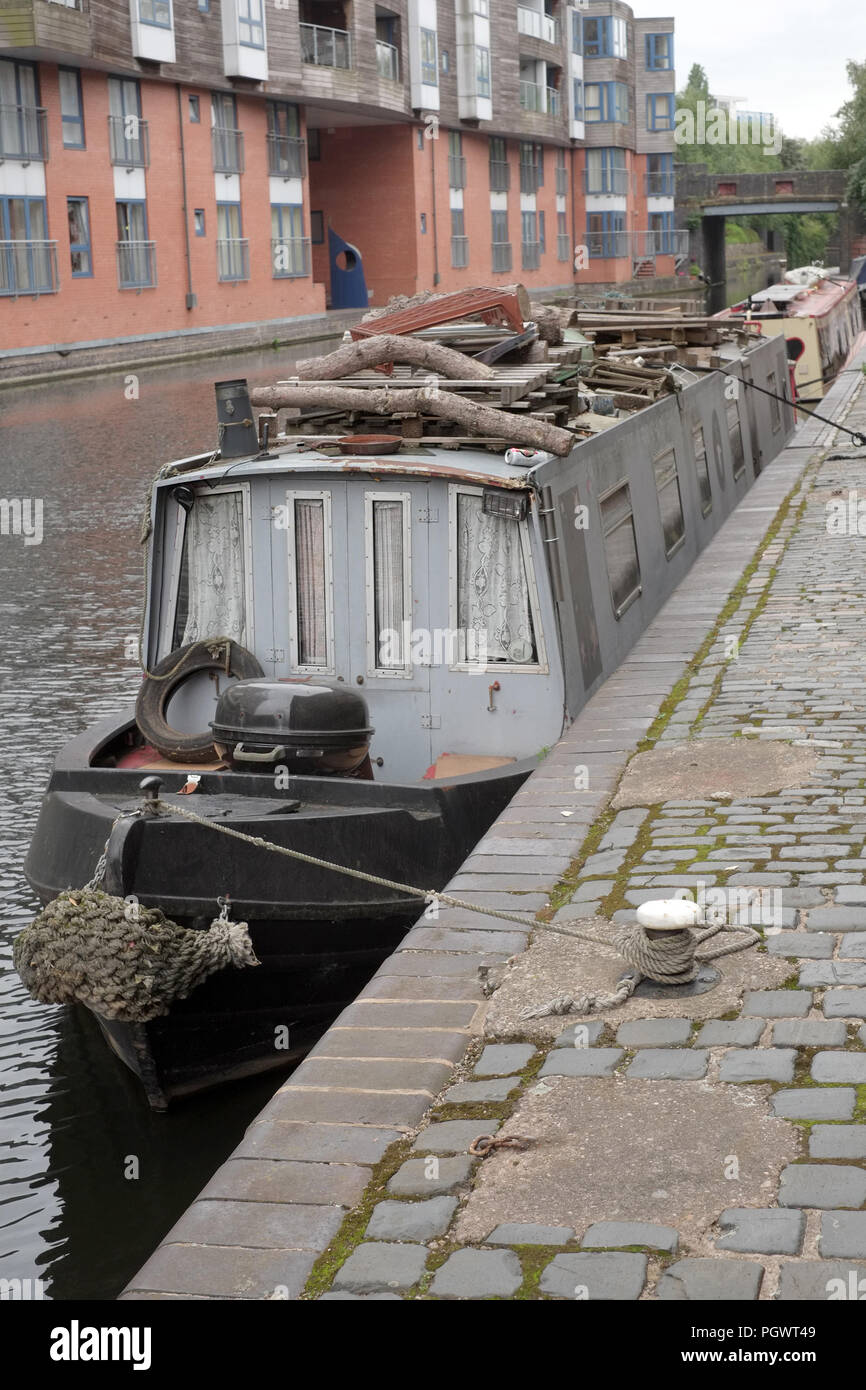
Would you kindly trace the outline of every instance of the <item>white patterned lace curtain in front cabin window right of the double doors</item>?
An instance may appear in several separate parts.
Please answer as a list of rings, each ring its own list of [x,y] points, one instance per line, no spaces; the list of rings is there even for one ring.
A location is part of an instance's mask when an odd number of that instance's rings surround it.
[[[457,627],[475,634],[474,649],[488,662],[537,660],[520,525],[485,516],[470,493],[457,496]]]

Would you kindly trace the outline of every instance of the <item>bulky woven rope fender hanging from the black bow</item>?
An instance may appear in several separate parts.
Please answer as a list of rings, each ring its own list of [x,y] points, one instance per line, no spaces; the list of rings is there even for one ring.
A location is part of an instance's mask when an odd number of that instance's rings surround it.
[[[93,887],[49,902],[15,938],[13,962],[40,1004],[85,1004],[122,1023],[163,1017],[229,965],[259,965],[246,922],[195,931]]]

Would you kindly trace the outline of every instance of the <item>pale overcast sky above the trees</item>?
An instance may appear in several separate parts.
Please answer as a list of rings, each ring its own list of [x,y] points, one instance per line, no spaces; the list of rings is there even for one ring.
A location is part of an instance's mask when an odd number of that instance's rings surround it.
[[[813,139],[851,92],[845,63],[866,61],[863,0],[630,0],[639,19],[673,15],[677,86],[692,63],[717,96],[771,111],[785,135]]]

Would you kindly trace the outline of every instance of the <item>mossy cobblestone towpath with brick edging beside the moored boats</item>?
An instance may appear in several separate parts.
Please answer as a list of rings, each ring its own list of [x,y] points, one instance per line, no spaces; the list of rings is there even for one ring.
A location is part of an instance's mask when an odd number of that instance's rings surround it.
[[[824,409],[866,428],[859,363]],[[523,920],[423,919],[125,1298],[866,1297],[848,445],[803,425],[449,885]],[[563,931],[671,897],[758,944],[703,992],[527,1017],[623,974]]]

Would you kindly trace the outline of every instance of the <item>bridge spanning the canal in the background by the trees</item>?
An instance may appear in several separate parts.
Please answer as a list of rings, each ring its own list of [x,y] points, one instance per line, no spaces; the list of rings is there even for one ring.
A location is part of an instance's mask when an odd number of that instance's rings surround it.
[[[838,224],[827,247],[831,265],[848,271],[853,256],[866,253],[863,218],[848,206],[845,170],[770,170],[766,174],[710,174],[706,164],[677,165],[677,225],[701,224],[689,250],[710,281],[709,311],[726,307],[726,217],[834,213]],[[770,247],[776,249],[776,247]]]

